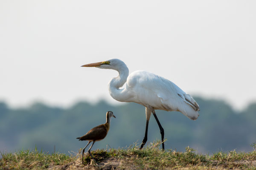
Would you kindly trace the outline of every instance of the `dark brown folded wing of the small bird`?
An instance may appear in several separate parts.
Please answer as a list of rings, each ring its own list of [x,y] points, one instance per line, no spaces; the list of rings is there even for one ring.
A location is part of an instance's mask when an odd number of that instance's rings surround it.
[[[91,130],[89,130],[84,136],[81,136],[77,139],[79,139],[79,141],[98,141],[98,140],[102,140],[105,138],[105,136],[107,136],[107,129],[106,126],[104,124],[93,127]]]

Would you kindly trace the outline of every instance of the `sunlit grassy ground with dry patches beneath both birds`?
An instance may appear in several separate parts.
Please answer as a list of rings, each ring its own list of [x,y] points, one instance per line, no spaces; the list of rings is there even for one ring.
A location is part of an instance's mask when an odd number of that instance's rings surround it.
[[[151,144],[143,150],[136,145],[125,149],[93,150],[91,153],[96,163],[90,163],[90,157],[85,154],[81,165],[81,152],[75,155],[62,153],[47,154],[38,150],[19,151],[17,153],[1,153],[0,170],[16,169],[95,169],[95,170],[221,170],[248,169],[256,170],[256,150],[250,153],[217,152],[213,155],[195,153],[190,147],[186,152],[175,150],[160,150],[159,143]]]

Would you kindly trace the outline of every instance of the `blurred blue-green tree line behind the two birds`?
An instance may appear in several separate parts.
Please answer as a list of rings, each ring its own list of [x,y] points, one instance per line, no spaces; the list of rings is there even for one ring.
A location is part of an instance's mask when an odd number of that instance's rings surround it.
[[[180,112],[157,110],[164,130],[166,149],[183,151],[186,146],[199,153],[219,150],[250,151],[256,142],[256,103],[243,111],[234,111],[223,100],[195,97],[200,105],[196,121]],[[84,135],[96,125],[105,123],[107,111],[113,111],[108,136],[96,142],[93,149],[126,147],[142,142],[145,132],[145,108],[136,103],[110,105],[101,100],[96,104],[78,102],[70,108],[49,107],[34,103],[28,108],[9,108],[0,102],[0,150],[13,152],[33,149],[52,153],[54,146],[61,153],[77,152],[87,142],[76,137]],[[153,116],[148,127],[148,142],[160,139],[160,130]]]

